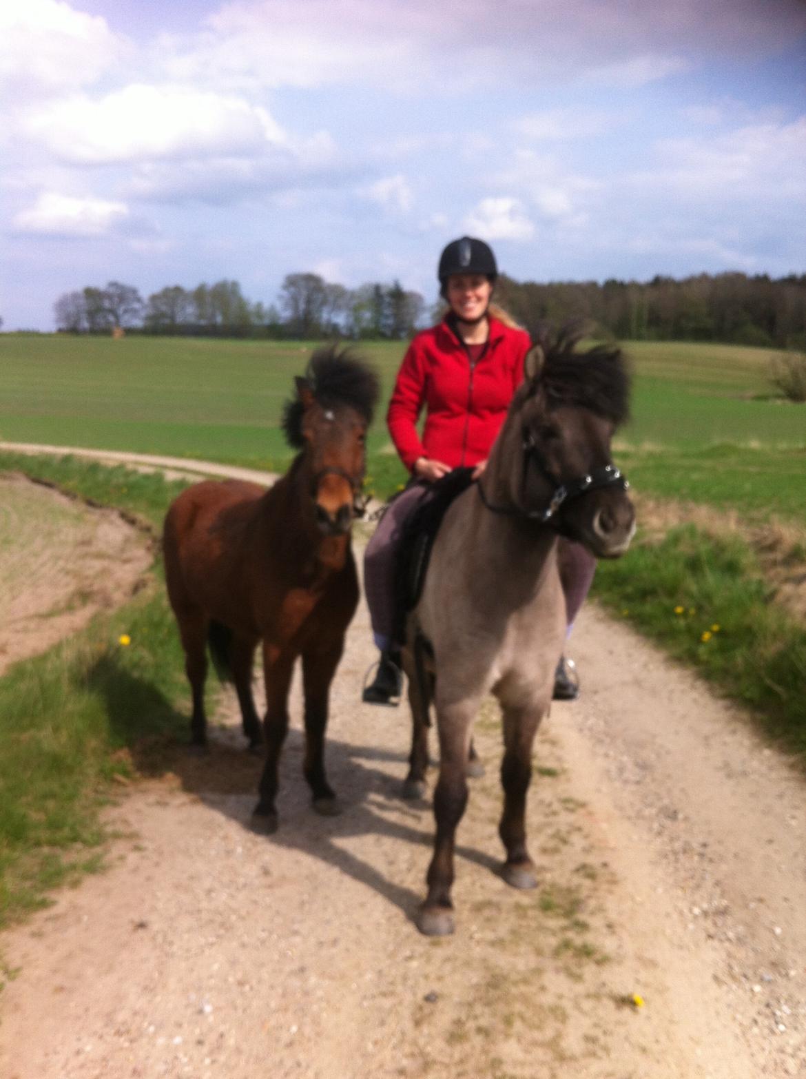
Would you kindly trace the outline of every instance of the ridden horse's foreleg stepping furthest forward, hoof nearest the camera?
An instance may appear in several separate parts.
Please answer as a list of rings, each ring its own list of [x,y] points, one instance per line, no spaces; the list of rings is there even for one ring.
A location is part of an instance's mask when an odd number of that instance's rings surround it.
[[[467,805],[467,754],[475,709],[466,702],[438,710],[439,779],[434,791],[437,835],[428,866],[428,894],[418,918],[418,928],[428,937],[452,933],[453,847]]]

